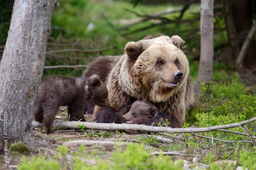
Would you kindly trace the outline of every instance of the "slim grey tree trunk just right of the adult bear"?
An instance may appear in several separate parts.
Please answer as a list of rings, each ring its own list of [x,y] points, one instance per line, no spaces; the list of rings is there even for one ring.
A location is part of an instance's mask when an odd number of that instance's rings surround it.
[[[196,82],[194,83],[194,91],[198,95],[200,91],[200,82],[209,83],[212,81],[212,60],[213,60],[213,5],[214,0],[201,1],[201,46],[199,70]]]

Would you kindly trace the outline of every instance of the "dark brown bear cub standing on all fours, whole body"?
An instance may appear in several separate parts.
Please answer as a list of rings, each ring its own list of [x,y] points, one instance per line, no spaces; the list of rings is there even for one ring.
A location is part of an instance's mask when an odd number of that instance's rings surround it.
[[[100,107],[110,105],[108,89],[97,74],[89,78],[53,76],[38,88],[33,118],[42,122],[41,131],[49,133],[60,106],[68,106],[70,121],[86,121],[84,103],[93,101]]]

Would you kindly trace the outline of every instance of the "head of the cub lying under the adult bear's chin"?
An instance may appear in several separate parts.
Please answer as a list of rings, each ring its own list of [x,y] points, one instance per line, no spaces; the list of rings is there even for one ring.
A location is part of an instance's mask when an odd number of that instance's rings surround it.
[[[157,114],[157,108],[147,102],[141,95],[138,96],[137,101],[132,104],[128,113],[123,115],[124,121],[132,121],[134,118],[139,117],[154,117]]]

